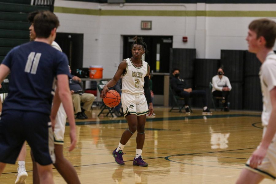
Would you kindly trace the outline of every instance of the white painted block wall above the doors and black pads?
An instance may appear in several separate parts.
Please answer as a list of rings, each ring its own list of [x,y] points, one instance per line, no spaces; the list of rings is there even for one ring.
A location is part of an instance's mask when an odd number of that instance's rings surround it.
[[[107,4],[56,0],[58,32],[83,33],[83,67],[103,65],[103,77],[112,78],[122,58],[122,35],[173,36],[173,48],[196,48],[197,58],[220,59],[221,49],[247,50],[245,38],[248,24],[261,17],[228,16],[227,11],[274,11],[275,4]],[[82,10],[63,13],[60,9]],[[89,15],[85,10],[131,10],[132,15]],[[207,16],[136,16],[141,10],[206,11]],[[222,17],[208,12],[226,12]],[[88,11],[89,12],[89,11]],[[91,12],[91,11],[90,11]],[[93,12],[93,11],[92,11]],[[93,14],[93,13],[92,13]],[[123,13],[122,13],[123,14]],[[260,14],[258,14],[260,15]],[[141,30],[142,20],[152,21],[152,30]],[[188,36],[188,42],[182,42]],[[276,49],[276,47],[275,47]]]

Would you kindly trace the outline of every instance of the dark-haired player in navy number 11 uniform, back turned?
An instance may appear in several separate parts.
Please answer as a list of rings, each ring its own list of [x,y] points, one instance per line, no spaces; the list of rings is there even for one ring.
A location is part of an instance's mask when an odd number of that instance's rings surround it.
[[[52,163],[55,162],[52,126],[61,100],[70,124],[71,146],[75,148],[76,131],[68,81],[68,60],[65,54],[52,48],[59,26],[50,11],[34,18],[34,42],[13,48],[0,65],[0,82],[10,73],[9,95],[0,120],[0,173],[6,163],[15,163],[25,140],[37,162],[41,183],[53,182]],[[60,99],[52,104],[52,85],[57,78]],[[57,102],[57,103],[56,103]],[[50,120],[51,118],[51,120]],[[51,124],[52,122],[52,124]]]

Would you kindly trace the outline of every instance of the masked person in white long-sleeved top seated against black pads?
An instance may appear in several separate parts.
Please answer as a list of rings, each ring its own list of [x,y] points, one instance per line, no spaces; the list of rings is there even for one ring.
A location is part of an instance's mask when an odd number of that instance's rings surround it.
[[[222,97],[222,103],[224,103],[224,111],[229,112],[228,103],[228,95],[232,89],[230,81],[228,77],[224,76],[224,72],[222,68],[217,70],[217,75],[213,76],[212,79],[213,89],[212,94],[215,97]]]

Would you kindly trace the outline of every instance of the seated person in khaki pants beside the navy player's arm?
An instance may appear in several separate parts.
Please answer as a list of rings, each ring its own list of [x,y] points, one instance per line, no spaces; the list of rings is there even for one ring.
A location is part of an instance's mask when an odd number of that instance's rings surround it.
[[[70,66],[69,71],[71,73]],[[77,114],[76,119],[83,120],[88,118],[85,114],[85,110],[91,111],[91,105],[95,100],[95,96],[94,94],[84,93],[81,82],[82,80],[79,77],[72,75],[72,79],[69,80],[69,87],[72,93],[75,114]],[[84,103],[82,108],[81,102]]]

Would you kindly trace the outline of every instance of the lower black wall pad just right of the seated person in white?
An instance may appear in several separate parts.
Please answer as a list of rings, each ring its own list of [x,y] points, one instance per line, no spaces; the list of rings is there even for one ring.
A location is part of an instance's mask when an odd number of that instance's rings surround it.
[[[229,102],[231,109],[243,109],[243,82],[231,82]],[[247,93],[247,92],[246,92]]]

